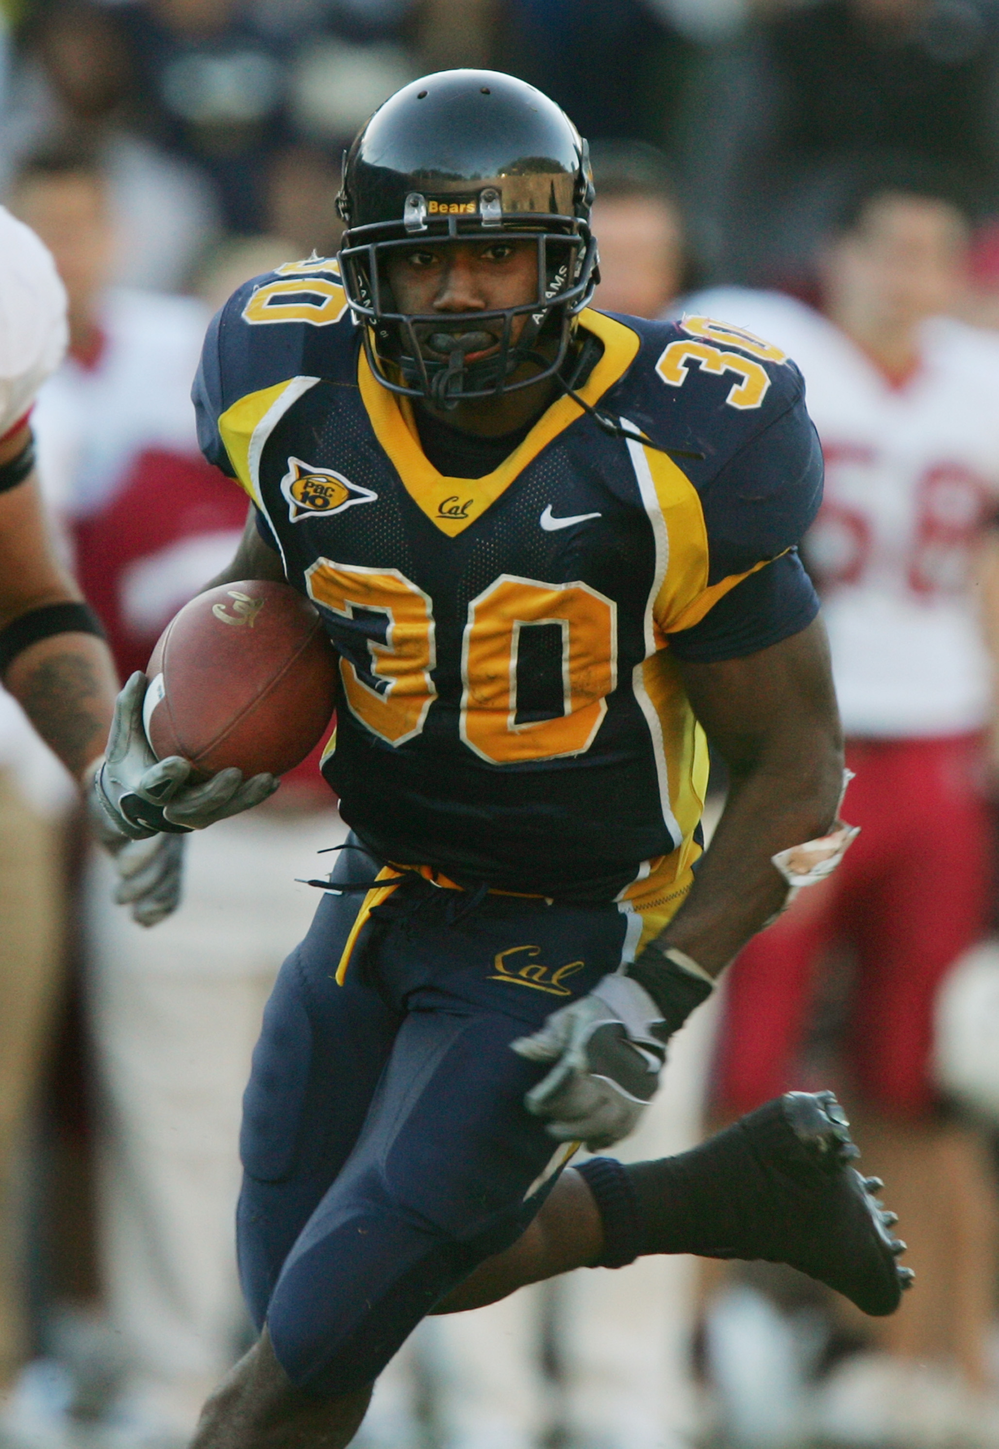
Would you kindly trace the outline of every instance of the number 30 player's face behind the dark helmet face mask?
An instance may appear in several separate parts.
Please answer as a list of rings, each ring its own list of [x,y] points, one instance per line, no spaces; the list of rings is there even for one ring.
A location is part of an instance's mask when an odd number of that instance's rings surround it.
[[[448,355],[448,339],[455,335],[447,326],[448,314],[519,307],[538,296],[538,252],[535,243],[526,239],[413,246],[390,256],[386,272],[399,312],[441,317],[439,329],[419,329],[420,346],[432,358]],[[513,342],[526,319],[526,313],[513,319]],[[467,325],[460,330],[467,333]],[[484,322],[483,345],[465,352],[465,361],[477,362],[489,356],[502,335],[500,320]]]

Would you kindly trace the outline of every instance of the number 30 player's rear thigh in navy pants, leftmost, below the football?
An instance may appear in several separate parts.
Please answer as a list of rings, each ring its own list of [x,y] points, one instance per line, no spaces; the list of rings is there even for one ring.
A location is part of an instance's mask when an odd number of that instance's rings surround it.
[[[254,1051],[236,1224],[258,1326],[289,1250],[354,1149],[399,1027],[360,964],[336,982],[358,909],[357,897],[323,897],[281,966]]]

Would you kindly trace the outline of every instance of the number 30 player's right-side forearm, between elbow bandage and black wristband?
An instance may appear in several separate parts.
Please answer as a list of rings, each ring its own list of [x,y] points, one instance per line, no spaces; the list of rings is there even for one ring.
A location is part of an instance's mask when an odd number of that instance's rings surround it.
[[[787,895],[771,858],[825,835],[841,791],[837,732],[816,738],[806,752],[795,748],[737,775],[690,894],[660,945],[718,975]]]

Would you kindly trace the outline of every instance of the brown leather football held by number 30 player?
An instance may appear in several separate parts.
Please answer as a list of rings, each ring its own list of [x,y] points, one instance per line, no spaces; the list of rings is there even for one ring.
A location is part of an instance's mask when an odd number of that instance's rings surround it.
[[[319,614],[287,584],[248,580],[199,594],[167,625],[146,669],[146,738],[204,780],[235,765],[283,775],[333,713],[336,653]]]

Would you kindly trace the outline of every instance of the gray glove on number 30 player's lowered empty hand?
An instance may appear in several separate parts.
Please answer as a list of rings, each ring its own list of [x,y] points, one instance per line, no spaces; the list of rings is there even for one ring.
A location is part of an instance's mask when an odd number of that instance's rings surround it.
[[[667,1036],[644,987],[625,975],[605,977],[589,995],[552,1011],[539,1032],[512,1043],[518,1056],[555,1064],[525,1097],[528,1111],[560,1142],[584,1142],[592,1152],[621,1142],[655,1094]]]

